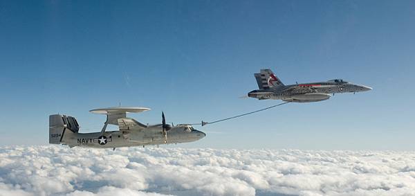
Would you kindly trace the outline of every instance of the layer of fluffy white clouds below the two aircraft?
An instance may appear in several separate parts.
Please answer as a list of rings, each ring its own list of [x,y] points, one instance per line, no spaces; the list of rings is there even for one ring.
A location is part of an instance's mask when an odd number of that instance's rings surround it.
[[[2,147],[0,195],[415,195],[415,152]]]

